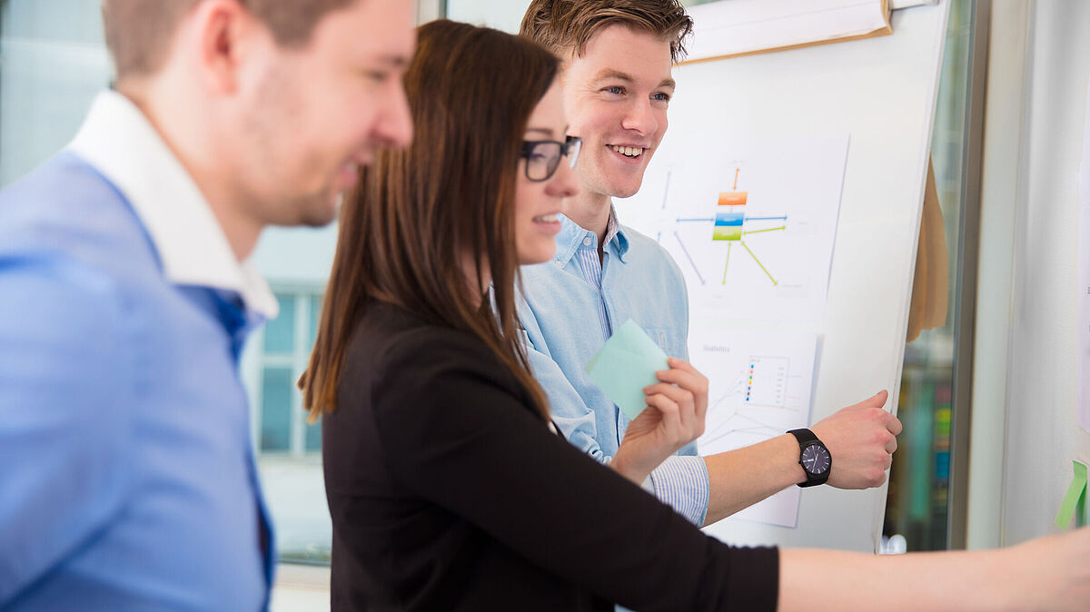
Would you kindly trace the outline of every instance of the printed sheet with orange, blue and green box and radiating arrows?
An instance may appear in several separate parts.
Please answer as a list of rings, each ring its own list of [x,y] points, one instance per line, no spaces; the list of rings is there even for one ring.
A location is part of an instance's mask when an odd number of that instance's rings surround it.
[[[674,257],[694,314],[820,323],[847,150],[829,136],[663,151],[617,211]]]

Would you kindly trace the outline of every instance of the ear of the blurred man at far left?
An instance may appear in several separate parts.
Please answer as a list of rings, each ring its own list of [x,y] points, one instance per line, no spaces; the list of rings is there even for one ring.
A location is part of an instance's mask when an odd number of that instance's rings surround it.
[[[243,61],[257,38],[267,34],[238,0],[202,2],[194,19],[205,85],[213,94],[233,94],[239,87]]]

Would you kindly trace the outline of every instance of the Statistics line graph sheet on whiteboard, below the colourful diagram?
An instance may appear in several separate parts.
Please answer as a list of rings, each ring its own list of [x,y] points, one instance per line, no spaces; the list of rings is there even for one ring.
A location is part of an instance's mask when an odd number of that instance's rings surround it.
[[[814,334],[713,330],[694,326],[689,353],[708,378],[701,455],[732,451],[810,424],[816,355]],[[792,487],[730,519],[794,527],[799,489]]]

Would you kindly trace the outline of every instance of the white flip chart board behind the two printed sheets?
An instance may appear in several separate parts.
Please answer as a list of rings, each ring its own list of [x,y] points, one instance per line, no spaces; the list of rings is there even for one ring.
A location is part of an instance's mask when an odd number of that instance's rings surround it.
[[[948,2],[896,11],[892,36],[675,69],[664,152],[708,138],[787,140],[848,134],[836,242],[819,333],[811,420],[891,391],[896,412],[905,332],[945,41]],[[699,24],[698,24],[699,33]],[[649,168],[655,181],[656,158]],[[625,219],[625,203],[617,204]],[[700,339],[690,338],[690,345]],[[802,491],[795,528],[725,521],[736,544],[877,551],[886,489]]]

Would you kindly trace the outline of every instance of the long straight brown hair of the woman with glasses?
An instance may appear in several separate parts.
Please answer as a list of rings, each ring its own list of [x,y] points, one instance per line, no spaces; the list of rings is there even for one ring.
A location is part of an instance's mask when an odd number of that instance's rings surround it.
[[[341,206],[322,321],[299,381],[312,420],[336,409],[350,335],[373,299],[480,339],[547,418],[517,335],[514,187],[530,114],[556,73],[552,53],[495,29],[450,21],[417,29],[405,75],[413,144],[380,152]],[[491,273],[495,311],[467,276],[467,257],[476,278]]]

